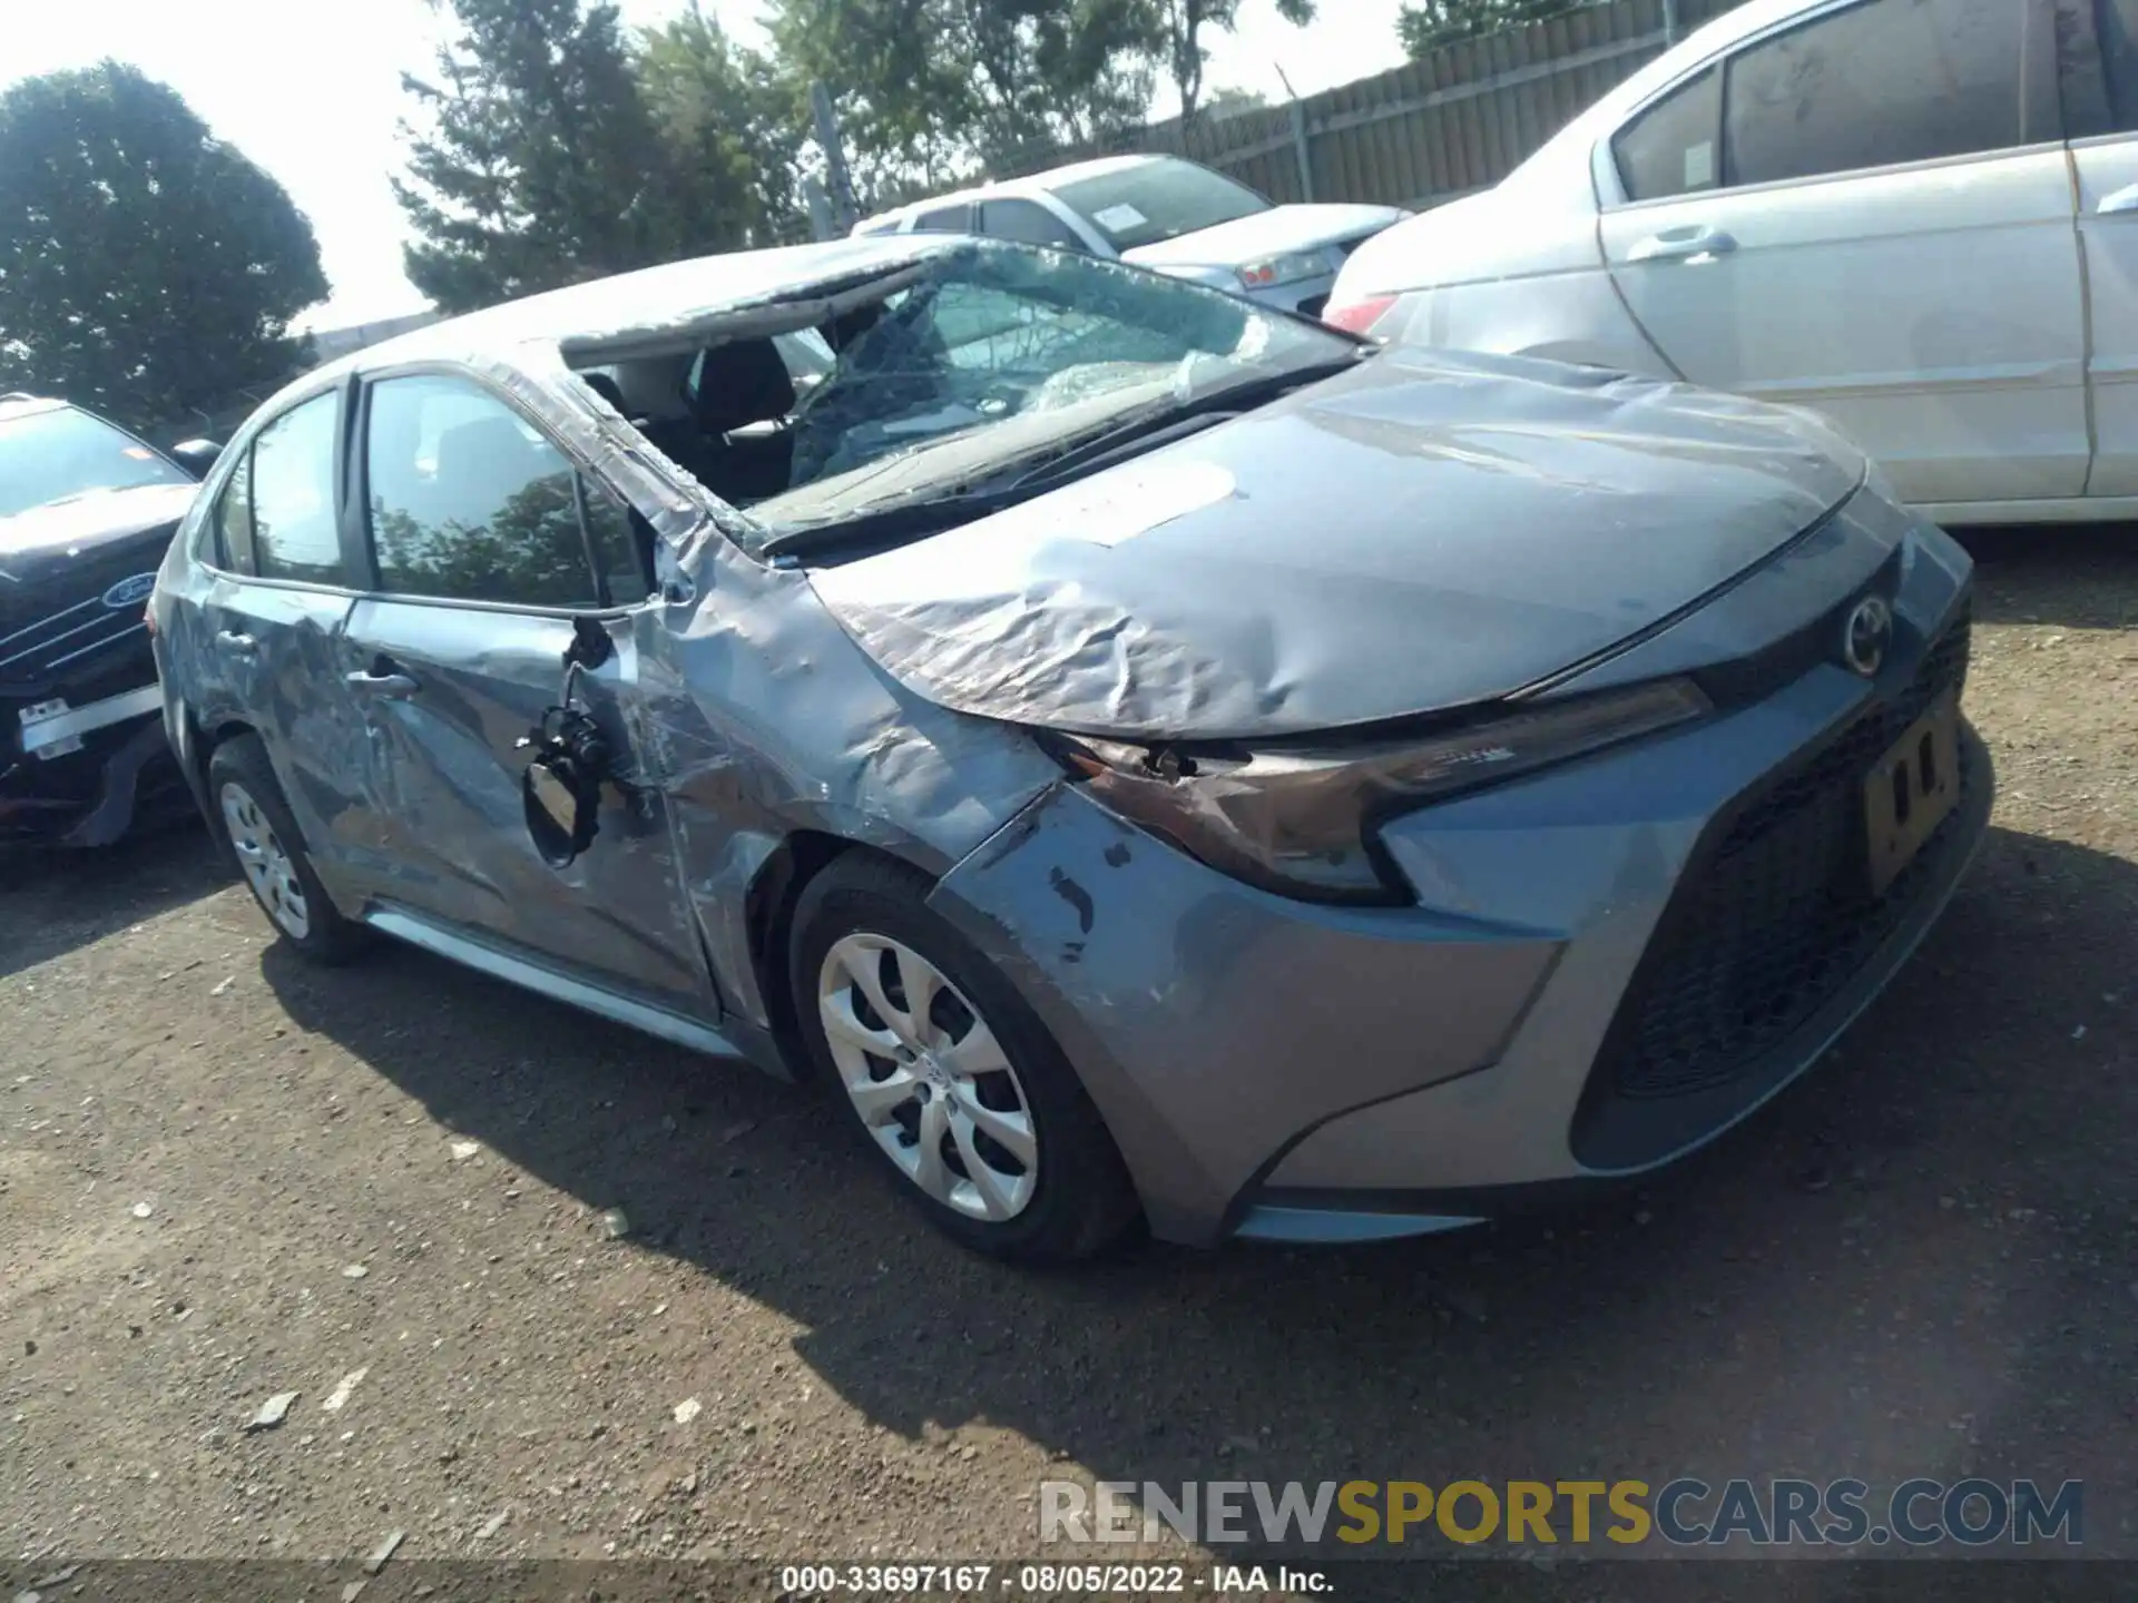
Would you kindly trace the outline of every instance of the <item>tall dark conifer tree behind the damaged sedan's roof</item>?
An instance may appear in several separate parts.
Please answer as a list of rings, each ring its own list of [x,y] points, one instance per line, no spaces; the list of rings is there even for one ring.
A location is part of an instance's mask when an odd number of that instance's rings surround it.
[[[676,173],[614,4],[440,0],[460,24],[417,98],[408,280],[443,312],[669,261]]]

